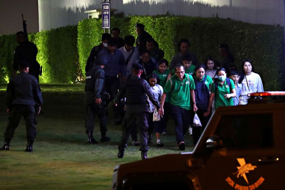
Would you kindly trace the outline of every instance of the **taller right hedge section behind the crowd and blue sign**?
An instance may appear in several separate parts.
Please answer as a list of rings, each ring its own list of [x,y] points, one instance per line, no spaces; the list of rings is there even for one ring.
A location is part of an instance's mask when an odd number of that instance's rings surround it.
[[[241,68],[242,59],[251,59],[255,71],[261,75],[265,90],[284,90],[284,37],[283,27],[249,24],[231,19],[199,18],[188,16],[133,16],[111,19],[111,28],[119,27],[121,37],[136,37],[134,25],[143,23],[159,47],[165,52],[165,59],[171,61],[178,53],[179,40],[187,38],[190,50],[197,54],[201,62],[207,55],[222,60],[219,44],[227,43],[233,53],[236,65]],[[78,53],[82,72],[90,50],[101,42],[100,19],[86,19],[78,24]]]

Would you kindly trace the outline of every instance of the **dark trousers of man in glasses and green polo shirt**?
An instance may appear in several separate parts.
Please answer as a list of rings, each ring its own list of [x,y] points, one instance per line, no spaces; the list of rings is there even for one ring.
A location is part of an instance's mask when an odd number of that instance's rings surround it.
[[[175,134],[178,144],[181,141],[184,141],[184,135],[189,127],[189,116],[191,113],[191,110],[186,110],[170,104],[170,115],[175,122]]]

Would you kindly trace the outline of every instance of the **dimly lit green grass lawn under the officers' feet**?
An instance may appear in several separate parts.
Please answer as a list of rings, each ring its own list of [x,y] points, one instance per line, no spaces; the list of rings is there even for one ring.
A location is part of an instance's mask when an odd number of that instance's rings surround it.
[[[8,114],[5,106],[7,85],[0,84],[0,145],[4,142]],[[87,144],[85,133],[84,84],[41,85],[43,109],[38,115],[33,152],[26,148],[26,129],[22,118],[10,142],[10,151],[0,152],[0,189],[111,189],[113,168],[140,160],[140,147],[128,146],[123,159],[117,158],[122,127],[113,125],[109,109],[108,143]],[[98,120],[95,139],[99,141]],[[155,137],[148,157],[179,153],[173,121],[161,138],[163,148],[155,147]],[[186,134],[186,150],[192,151],[192,137]],[[131,144],[131,138],[129,140]]]

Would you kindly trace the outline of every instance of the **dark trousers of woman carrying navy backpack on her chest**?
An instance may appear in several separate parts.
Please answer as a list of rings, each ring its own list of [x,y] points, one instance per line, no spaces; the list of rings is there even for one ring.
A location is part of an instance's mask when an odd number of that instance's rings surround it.
[[[204,113],[206,112],[207,110],[200,110],[198,108],[197,110],[197,115],[201,121],[201,124],[202,124],[202,127],[193,127],[192,128],[192,137],[193,137],[193,144],[197,144],[201,134],[203,133],[211,115],[212,115],[212,110],[210,111],[210,115],[208,115],[207,117],[204,117]],[[191,117],[191,121],[193,122],[193,119],[194,119],[194,114],[193,116]],[[192,123],[191,123],[192,124]]]

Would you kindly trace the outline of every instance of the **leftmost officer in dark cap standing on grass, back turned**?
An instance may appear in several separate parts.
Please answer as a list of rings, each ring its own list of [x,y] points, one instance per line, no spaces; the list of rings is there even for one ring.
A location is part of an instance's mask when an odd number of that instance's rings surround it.
[[[18,63],[20,73],[11,78],[7,87],[7,113],[11,115],[4,133],[5,143],[0,150],[9,150],[10,140],[14,136],[21,117],[24,116],[28,139],[26,151],[32,152],[36,137],[36,113],[40,112],[43,99],[36,77],[28,74],[29,63],[25,60],[20,60]]]

